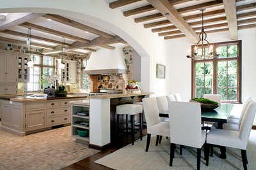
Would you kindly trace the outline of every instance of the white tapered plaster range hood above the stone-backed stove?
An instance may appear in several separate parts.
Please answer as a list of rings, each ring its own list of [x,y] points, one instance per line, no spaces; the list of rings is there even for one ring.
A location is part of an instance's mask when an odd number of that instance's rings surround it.
[[[117,68],[127,69],[122,47],[116,47],[115,50],[100,48],[97,52],[93,52],[87,62],[86,70]]]

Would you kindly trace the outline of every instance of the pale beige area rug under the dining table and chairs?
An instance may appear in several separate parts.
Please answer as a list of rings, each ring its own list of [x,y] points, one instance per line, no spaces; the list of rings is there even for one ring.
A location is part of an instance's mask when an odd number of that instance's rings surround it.
[[[95,161],[113,169],[196,169],[196,150],[186,147],[183,155],[179,155],[179,148],[175,150],[173,167],[169,166],[170,141],[163,139],[161,145],[155,146],[156,139],[152,137],[148,153],[145,152],[147,138],[137,141],[134,146],[128,145]],[[240,150],[227,149],[227,159],[217,157],[219,149],[214,149],[214,156],[210,157],[209,167],[205,160],[201,161],[201,169],[243,169]],[[256,169],[256,131],[252,131],[247,148],[248,169]],[[202,152],[204,157],[204,152]]]

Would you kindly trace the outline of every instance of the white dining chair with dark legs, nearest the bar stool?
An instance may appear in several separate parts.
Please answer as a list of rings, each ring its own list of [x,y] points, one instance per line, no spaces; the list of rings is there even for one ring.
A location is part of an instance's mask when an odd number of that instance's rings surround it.
[[[147,122],[147,146],[146,152],[150,145],[151,135],[156,135],[156,145],[159,143],[160,136],[170,137],[169,122],[161,122],[159,118],[159,110],[155,97],[142,99],[144,114]]]

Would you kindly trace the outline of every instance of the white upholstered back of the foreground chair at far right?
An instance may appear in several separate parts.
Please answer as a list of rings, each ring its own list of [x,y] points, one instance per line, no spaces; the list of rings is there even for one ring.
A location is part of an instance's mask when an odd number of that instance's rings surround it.
[[[244,143],[243,149],[246,149],[250,132],[252,130],[255,113],[256,113],[256,103],[254,101],[250,101],[250,103],[248,104],[244,112],[244,117],[242,119],[241,127],[239,129],[239,138]]]

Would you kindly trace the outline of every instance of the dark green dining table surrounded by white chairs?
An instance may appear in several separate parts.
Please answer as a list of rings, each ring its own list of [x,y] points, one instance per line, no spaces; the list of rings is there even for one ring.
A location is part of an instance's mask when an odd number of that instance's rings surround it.
[[[234,107],[234,104],[229,103],[221,103],[218,108],[214,110],[208,110],[208,111],[201,111],[201,120],[202,122],[214,122],[217,123],[217,128],[222,129],[222,125],[227,123],[228,117]],[[188,113],[189,114],[189,113]],[[168,112],[166,113],[159,113],[159,117],[168,118]],[[226,148],[223,146],[220,146],[221,154],[220,158],[225,159],[226,158]]]

